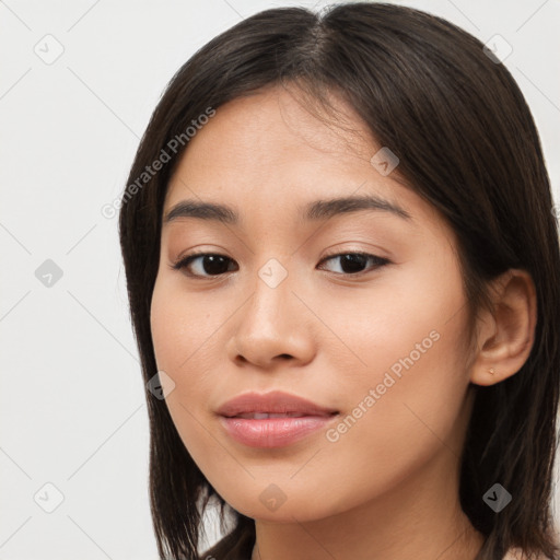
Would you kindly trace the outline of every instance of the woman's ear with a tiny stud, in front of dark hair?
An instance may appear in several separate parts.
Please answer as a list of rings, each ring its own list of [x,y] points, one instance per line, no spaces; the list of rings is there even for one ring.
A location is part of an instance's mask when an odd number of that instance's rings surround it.
[[[476,385],[494,385],[517,373],[535,341],[537,299],[530,275],[510,269],[490,287],[493,310],[477,317],[477,353],[470,373]]]

